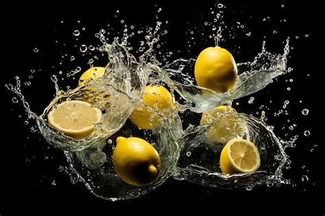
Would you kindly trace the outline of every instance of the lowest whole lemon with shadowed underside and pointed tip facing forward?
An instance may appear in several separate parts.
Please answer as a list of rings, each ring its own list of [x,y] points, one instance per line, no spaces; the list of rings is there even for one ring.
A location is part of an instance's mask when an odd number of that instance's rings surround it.
[[[156,149],[143,139],[117,137],[112,159],[117,174],[128,184],[145,186],[159,176],[160,156]]]

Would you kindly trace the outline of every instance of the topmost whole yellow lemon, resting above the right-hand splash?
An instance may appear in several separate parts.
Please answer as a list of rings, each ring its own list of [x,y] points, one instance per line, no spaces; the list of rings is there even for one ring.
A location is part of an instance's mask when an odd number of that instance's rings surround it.
[[[236,84],[237,66],[226,49],[208,47],[197,57],[194,75],[198,86],[226,93]]]

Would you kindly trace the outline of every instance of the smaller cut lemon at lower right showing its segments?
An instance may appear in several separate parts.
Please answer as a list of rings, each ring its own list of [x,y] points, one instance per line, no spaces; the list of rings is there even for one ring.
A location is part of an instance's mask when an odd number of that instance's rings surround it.
[[[254,143],[245,139],[232,139],[222,149],[220,167],[223,173],[250,173],[261,165],[261,158]]]

